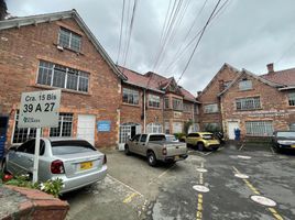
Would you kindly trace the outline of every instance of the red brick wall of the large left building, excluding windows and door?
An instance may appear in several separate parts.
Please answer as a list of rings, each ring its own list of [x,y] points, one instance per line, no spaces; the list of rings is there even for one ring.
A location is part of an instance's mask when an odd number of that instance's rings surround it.
[[[81,53],[56,48],[59,26],[83,36]],[[52,87],[36,86],[39,61],[44,59],[90,74],[89,94],[63,90],[61,112],[95,114],[98,120],[110,120],[111,132],[97,134],[96,145],[113,145],[118,140],[118,114],[121,94],[120,80],[96,51],[83,30],[72,19],[21,26],[0,32],[0,106],[1,113],[10,116],[8,142],[19,108],[21,92]],[[8,92],[9,91],[9,92]],[[77,130],[74,121],[74,135]]]

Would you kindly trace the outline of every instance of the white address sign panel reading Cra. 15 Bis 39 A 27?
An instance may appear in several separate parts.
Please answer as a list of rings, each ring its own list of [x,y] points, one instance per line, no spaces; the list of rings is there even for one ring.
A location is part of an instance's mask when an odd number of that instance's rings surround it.
[[[61,90],[23,92],[19,128],[58,127]]]

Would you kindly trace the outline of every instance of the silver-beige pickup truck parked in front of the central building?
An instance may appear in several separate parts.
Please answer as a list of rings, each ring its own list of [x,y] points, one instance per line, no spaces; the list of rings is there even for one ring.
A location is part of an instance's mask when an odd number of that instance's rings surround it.
[[[148,163],[155,166],[157,161],[175,163],[187,157],[187,147],[182,142],[166,141],[165,134],[136,134],[124,146],[130,153],[148,157]]]

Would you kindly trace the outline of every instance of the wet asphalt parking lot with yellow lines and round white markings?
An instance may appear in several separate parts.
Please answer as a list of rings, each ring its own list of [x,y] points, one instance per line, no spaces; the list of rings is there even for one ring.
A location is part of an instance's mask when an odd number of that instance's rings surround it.
[[[63,197],[70,205],[67,219],[295,219],[294,153],[228,145],[217,152],[189,151],[186,161],[157,167],[136,155],[105,153],[109,175]],[[252,196],[273,204],[261,205]]]

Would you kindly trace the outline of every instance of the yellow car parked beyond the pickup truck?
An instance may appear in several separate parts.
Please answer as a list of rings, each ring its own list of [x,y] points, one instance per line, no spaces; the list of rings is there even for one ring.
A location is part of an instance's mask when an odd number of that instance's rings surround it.
[[[216,151],[220,146],[219,140],[210,132],[193,132],[187,134],[186,144],[189,147],[197,147],[199,151]]]

